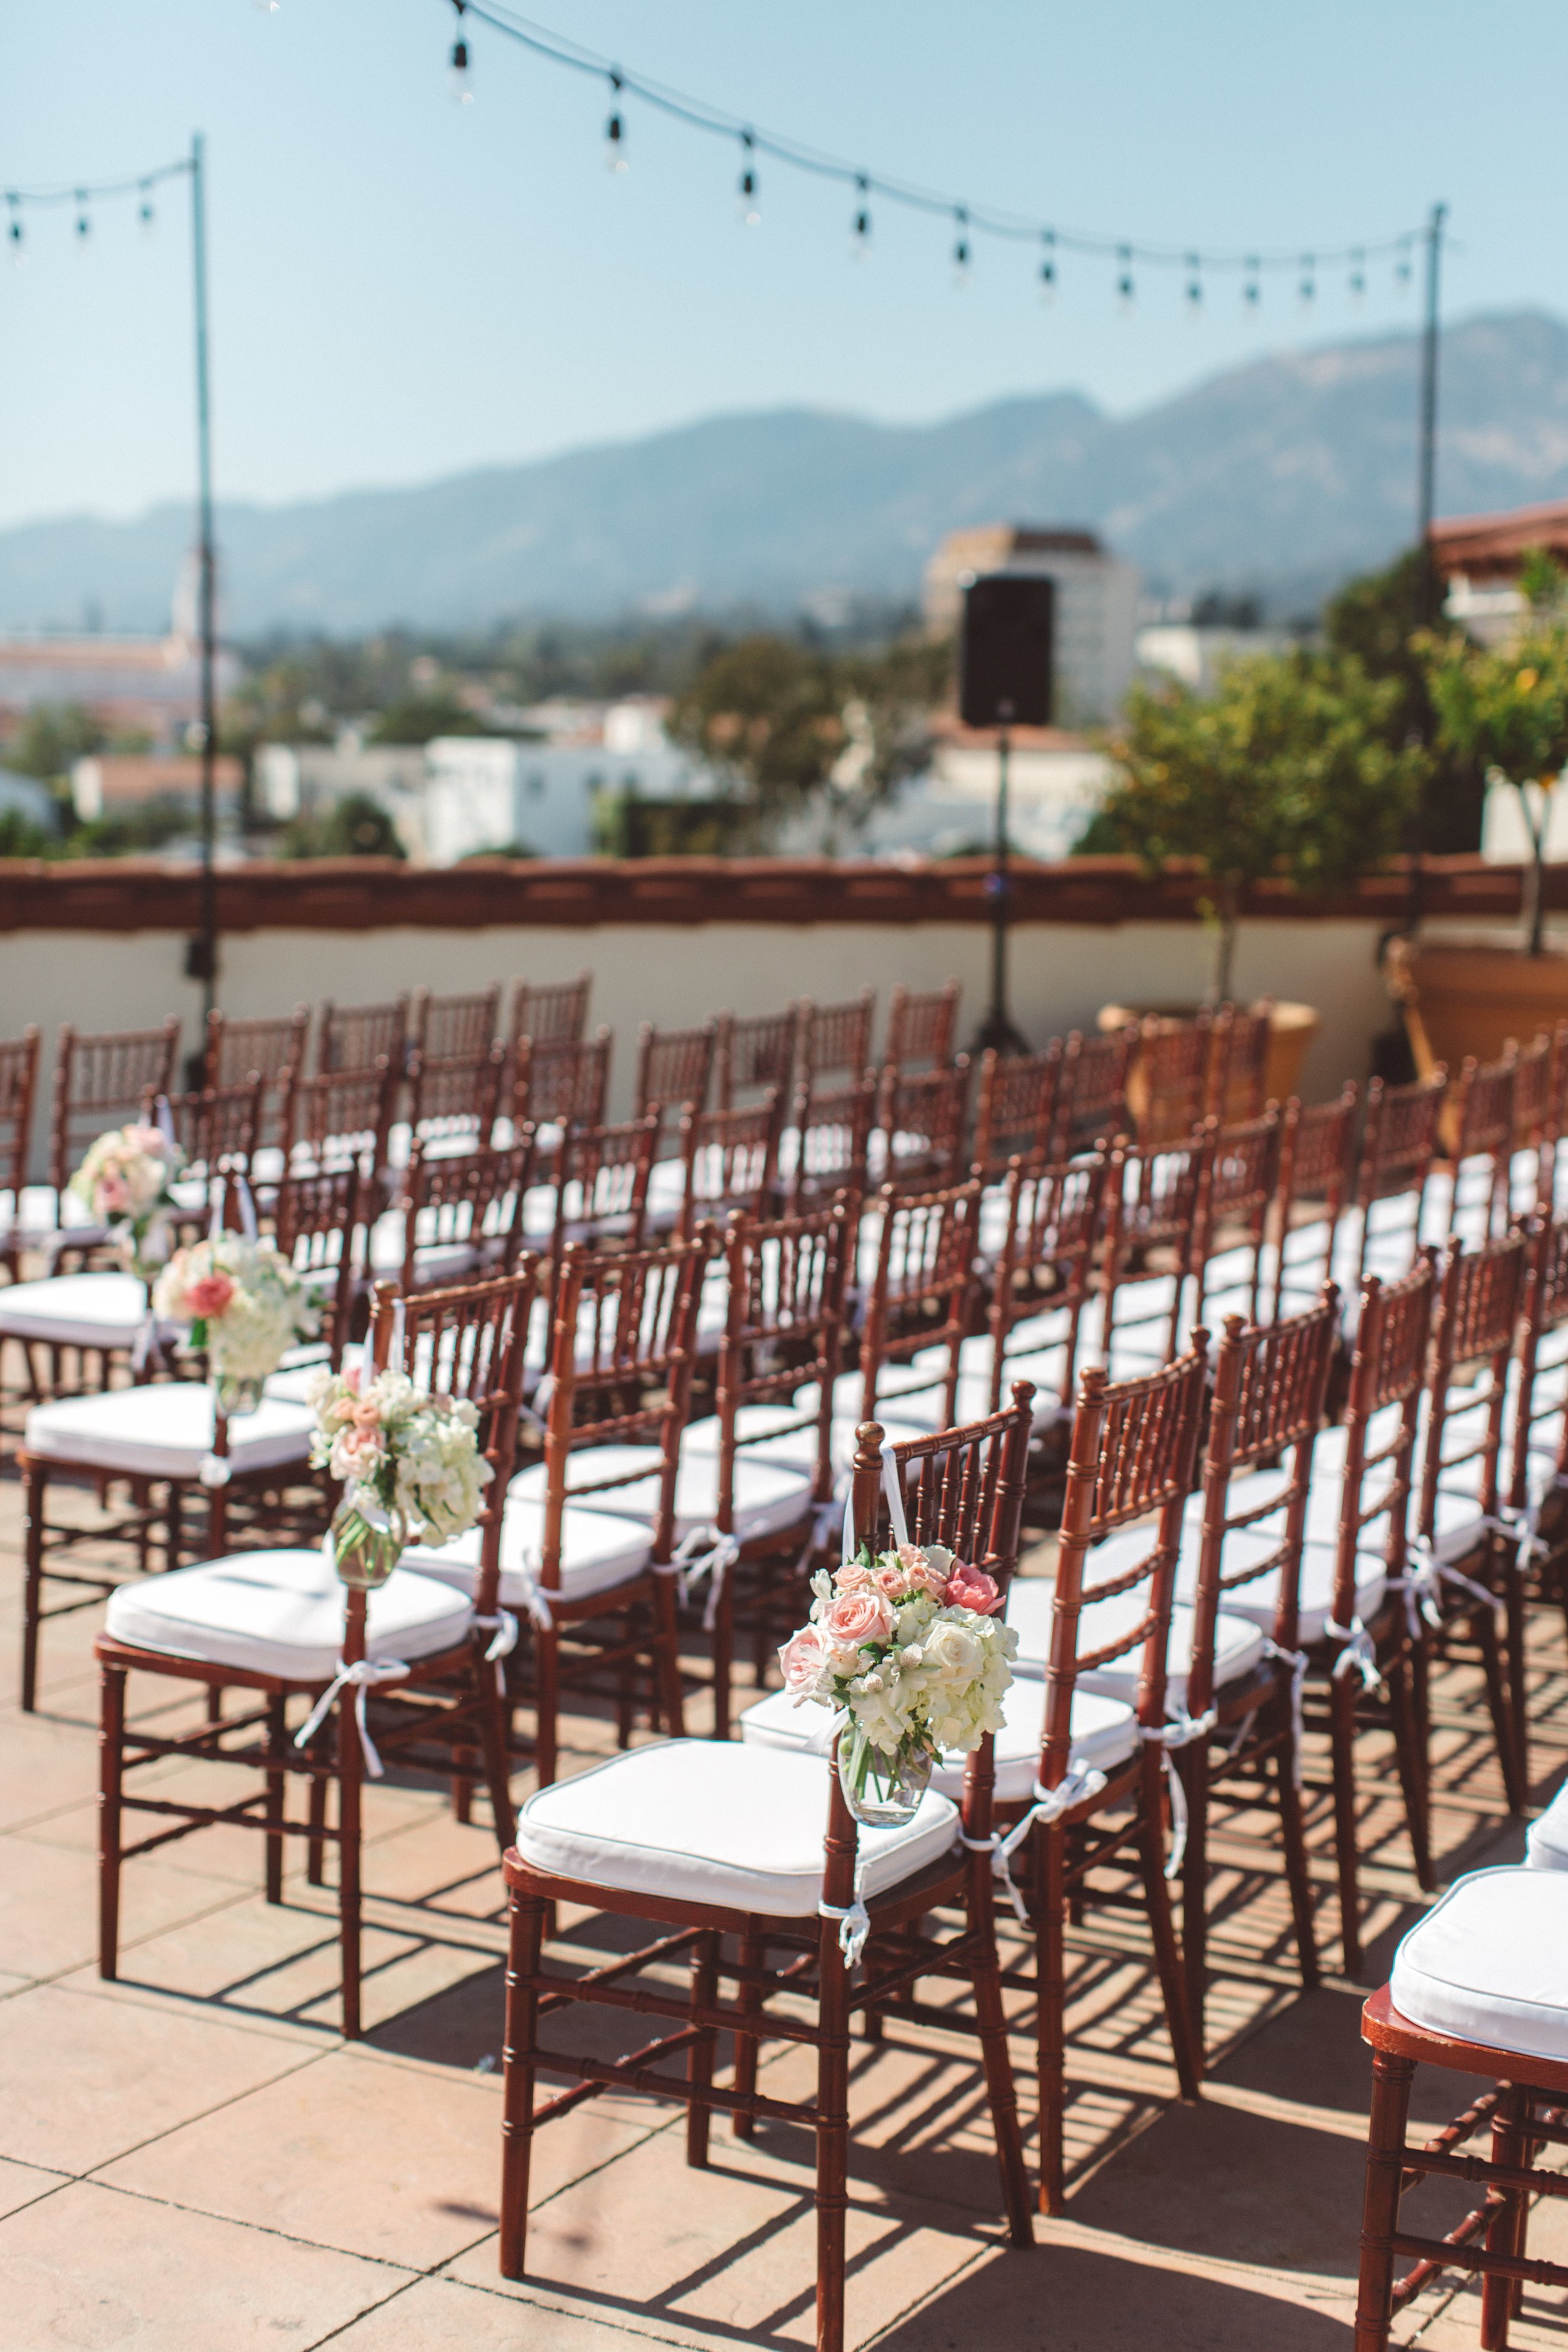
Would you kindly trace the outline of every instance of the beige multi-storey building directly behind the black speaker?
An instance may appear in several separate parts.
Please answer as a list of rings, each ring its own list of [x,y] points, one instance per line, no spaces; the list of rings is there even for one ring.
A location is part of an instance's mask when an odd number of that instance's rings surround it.
[[[959,628],[964,588],[980,572],[1023,572],[1056,583],[1056,724],[1112,720],[1133,680],[1138,572],[1093,532],[985,522],[947,532],[926,564],[924,614],[936,635]]]

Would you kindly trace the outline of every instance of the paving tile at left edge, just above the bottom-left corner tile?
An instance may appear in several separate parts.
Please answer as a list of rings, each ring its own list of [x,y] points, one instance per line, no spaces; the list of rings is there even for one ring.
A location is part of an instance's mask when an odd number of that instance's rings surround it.
[[[254,2027],[38,1985],[0,2002],[0,2154],[87,2173],[308,2056]]]

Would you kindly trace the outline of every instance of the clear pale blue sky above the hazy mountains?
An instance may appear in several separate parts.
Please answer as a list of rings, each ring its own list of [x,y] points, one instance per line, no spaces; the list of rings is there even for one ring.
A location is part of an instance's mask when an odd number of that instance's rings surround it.
[[[1568,14],[1493,0],[541,0],[545,24],[771,129],[976,202],[1173,245],[1312,247],[1453,207],[1453,313],[1568,310]],[[473,28],[447,89],[447,0],[9,0],[0,186],[134,172],[195,127],[212,158],[219,489],[266,501],[414,482],[785,402],[929,419],[1074,386],[1143,407],[1253,353],[1413,322],[1387,266],[1356,308],[1234,280],[1201,322],[1180,278],[1067,259],[853,202]],[[33,214],[0,263],[0,522],[134,513],[190,485],[188,242],[106,209]]]

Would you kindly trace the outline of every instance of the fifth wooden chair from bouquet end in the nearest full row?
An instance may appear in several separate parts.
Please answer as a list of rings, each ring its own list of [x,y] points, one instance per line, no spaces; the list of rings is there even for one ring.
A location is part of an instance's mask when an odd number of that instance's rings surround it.
[[[1519,1543],[1500,1517],[1509,1359],[1526,1301],[1530,1237],[1512,1232],[1467,1251],[1448,1244],[1439,1272],[1427,1378],[1427,1435],[1415,1494],[1415,1698],[1427,1738],[1432,1658],[1465,1637],[1481,1658],[1486,1703],[1512,1813],[1528,1790],[1526,1611]],[[1497,1611],[1507,1618],[1507,1675]]]

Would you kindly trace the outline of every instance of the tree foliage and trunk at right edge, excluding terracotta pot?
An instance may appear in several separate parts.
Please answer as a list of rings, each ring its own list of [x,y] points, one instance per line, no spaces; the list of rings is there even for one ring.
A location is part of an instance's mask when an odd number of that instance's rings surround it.
[[[1530,840],[1526,929],[1542,953],[1547,818],[1568,767],[1568,630],[1542,619],[1556,579],[1535,572],[1530,628],[1509,647],[1483,652],[1455,640],[1427,640],[1427,675],[1441,741],[1479,762],[1488,779],[1512,783]]]

